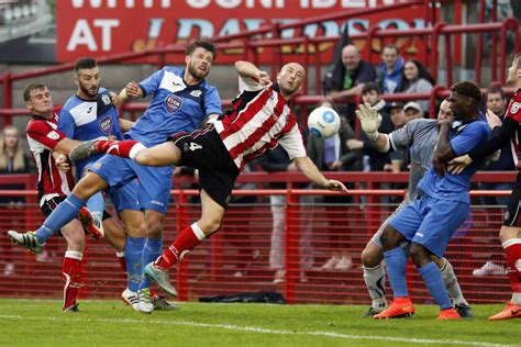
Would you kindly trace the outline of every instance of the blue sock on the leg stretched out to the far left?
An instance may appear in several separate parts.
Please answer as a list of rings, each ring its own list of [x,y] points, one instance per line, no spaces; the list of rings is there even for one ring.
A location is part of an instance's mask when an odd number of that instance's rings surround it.
[[[78,216],[79,209],[85,205],[85,201],[70,194],[51,213],[43,225],[36,231],[36,239],[41,245],[59,231],[67,223]]]

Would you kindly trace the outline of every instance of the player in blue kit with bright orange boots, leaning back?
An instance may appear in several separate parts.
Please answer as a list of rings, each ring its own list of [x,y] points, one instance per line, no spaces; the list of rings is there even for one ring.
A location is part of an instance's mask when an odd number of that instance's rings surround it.
[[[433,156],[433,168],[420,180],[419,199],[399,211],[380,236],[395,301],[375,318],[411,315],[414,312],[406,281],[407,257],[400,244],[411,242],[411,257],[429,292],[440,305],[439,320],[456,320],[440,268],[431,257],[442,258],[448,240],[469,212],[470,179],[478,169],[473,165],[461,175],[446,172],[447,161],[467,153],[490,136],[490,127],[481,120],[479,87],[469,81],[451,87],[448,101],[454,122],[440,122],[440,138]],[[361,108],[364,131],[370,132],[372,110]],[[376,131],[376,130],[375,130]]]

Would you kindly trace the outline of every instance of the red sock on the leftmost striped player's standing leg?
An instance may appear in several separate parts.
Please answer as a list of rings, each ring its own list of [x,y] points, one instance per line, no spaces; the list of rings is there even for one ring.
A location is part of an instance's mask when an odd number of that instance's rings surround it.
[[[62,264],[62,275],[65,279],[64,311],[76,305],[81,287],[81,257],[79,251],[67,251]]]

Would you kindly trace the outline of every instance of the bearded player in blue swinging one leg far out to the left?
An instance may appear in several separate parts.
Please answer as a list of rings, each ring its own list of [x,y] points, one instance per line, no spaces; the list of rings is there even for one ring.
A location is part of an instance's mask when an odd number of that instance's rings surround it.
[[[192,132],[207,119],[222,113],[221,99],[215,87],[207,82],[215,58],[215,46],[208,38],[192,41],[186,49],[186,67],[165,67],[140,83],[130,82],[114,100],[124,102],[129,98],[151,96],[148,109],[125,134],[126,139],[138,141],[146,146],[163,144],[179,132]],[[163,222],[168,206],[174,168],[141,166],[131,159],[104,156],[79,180],[67,203],[60,204],[33,236],[25,237],[27,244],[40,245],[59,227],[78,214],[79,209],[95,193],[108,187],[122,187],[138,178],[146,183],[140,186],[140,204],[145,210],[146,239],[142,264],[149,264],[162,254]],[[138,310],[151,313],[154,310],[151,282],[142,278],[138,290]]]

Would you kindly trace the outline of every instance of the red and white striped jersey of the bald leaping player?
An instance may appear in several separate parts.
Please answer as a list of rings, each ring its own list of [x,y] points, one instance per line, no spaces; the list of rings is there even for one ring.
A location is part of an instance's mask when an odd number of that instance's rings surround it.
[[[267,90],[250,78],[240,78],[241,93],[233,111],[214,122],[224,146],[240,170],[253,158],[278,144],[290,159],[306,157],[297,117],[276,83]]]

